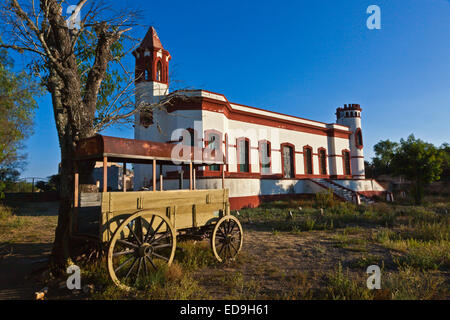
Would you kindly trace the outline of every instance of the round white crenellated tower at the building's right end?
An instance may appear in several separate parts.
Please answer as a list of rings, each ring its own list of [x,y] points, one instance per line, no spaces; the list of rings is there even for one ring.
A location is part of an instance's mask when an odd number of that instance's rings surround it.
[[[364,152],[361,130],[361,107],[359,104],[344,104],[336,109],[336,122],[348,126],[353,132],[350,136],[350,156],[353,179],[364,179]]]

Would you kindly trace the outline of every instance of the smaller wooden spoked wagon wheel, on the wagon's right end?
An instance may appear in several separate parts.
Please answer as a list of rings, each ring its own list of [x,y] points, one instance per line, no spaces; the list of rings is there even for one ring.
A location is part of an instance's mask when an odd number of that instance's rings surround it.
[[[235,216],[226,215],[214,226],[211,247],[219,262],[234,260],[242,248],[242,226]]]

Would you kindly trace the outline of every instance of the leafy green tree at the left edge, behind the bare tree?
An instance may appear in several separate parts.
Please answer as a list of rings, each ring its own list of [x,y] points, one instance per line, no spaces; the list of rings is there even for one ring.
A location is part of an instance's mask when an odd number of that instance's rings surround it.
[[[32,133],[35,99],[41,93],[25,71],[13,71],[12,59],[0,48],[0,197],[25,164],[23,141]]]

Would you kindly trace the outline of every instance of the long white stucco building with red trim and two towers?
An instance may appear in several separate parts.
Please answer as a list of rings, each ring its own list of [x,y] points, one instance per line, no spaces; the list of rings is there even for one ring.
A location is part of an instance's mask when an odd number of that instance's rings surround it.
[[[171,56],[153,27],[133,54],[136,103],[154,103],[166,97]],[[327,187],[348,200],[385,193],[376,181],[365,179],[362,109],[358,104],[338,108],[336,123],[324,123],[233,103],[206,90],[171,95],[174,99],[166,109],[136,116],[135,139],[202,146],[223,155],[224,167],[197,169],[196,186],[220,188],[224,171],[232,209],[314,194]],[[180,187],[182,169],[163,169],[165,189]],[[134,166],[136,190],[151,181],[151,165]]]

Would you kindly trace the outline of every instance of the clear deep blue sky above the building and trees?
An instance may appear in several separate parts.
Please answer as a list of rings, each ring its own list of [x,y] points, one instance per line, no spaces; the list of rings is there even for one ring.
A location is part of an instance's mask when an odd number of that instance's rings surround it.
[[[73,1],[76,2],[75,0]],[[369,5],[381,30],[366,27]],[[230,101],[334,122],[345,103],[363,108],[365,156],[382,139],[450,142],[450,1],[130,1],[172,55],[183,86]],[[117,8],[124,6],[117,1]],[[16,67],[26,62],[16,58]],[[133,57],[126,58],[128,66]],[[132,137],[131,128],[105,134]],[[51,100],[39,101],[23,177],[56,173]]]

